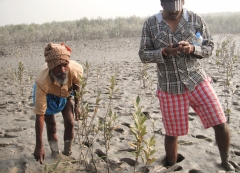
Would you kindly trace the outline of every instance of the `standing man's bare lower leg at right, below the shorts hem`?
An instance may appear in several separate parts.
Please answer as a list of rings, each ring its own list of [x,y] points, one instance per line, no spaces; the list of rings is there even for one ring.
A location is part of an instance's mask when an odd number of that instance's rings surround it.
[[[215,131],[215,138],[218,145],[218,149],[220,152],[222,163],[221,165],[227,171],[234,171],[235,169],[228,161],[228,152],[229,152],[229,145],[230,145],[230,133],[228,129],[228,125],[226,123],[219,124],[213,126]]]

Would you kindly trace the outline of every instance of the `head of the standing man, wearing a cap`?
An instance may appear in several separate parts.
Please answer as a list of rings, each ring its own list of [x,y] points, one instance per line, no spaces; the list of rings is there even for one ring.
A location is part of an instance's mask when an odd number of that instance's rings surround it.
[[[169,19],[180,17],[184,5],[184,0],[161,0],[163,11]]]

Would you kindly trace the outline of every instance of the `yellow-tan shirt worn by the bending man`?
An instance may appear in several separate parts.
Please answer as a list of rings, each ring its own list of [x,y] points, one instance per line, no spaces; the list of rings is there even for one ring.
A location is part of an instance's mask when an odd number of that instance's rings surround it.
[[[83,75],[82,65],[76,61],[69,61],[68,82],[62,87],[55,82],[50,76],[50,70],[47,63],[40,69],[36,78],[36,92],[35,92],[35,107],[33,109],[35,114],[44,115],[47,110],[47,94],[53,94],[58,97],[67,98],[70,96],[71,87],[73,84],[79,85],[80,76]]]

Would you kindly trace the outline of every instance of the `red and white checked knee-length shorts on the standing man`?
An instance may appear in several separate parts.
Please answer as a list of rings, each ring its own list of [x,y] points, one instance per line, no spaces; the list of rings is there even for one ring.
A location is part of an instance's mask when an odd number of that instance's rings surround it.
[[[189,106],[198,114],[205,128],[226,122],[226,117],[210,79],[201,82],[194,91],[187,88],[183,94],[157,91],[166,134],[182,136],[188,134]]]

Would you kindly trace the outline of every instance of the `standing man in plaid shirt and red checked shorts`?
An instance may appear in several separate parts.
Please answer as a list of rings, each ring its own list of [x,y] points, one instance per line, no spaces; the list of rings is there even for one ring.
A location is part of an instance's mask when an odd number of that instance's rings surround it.
[[[149,17],[143,25],[139,50],[143,63],[157,64],[167,163],[172,166],[177,162],[178,136],[188,133],[191,106],[205,128],[213,127],[221,165],[233,171],[228,161],[230,135],[226,118],[210,78],[199,63],[212,55],[213,40],[204,20],[183,5],[184,0],[161,0],[163,11]],[[203,37],[202,46],[193,45],[197,32]]]

